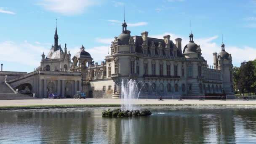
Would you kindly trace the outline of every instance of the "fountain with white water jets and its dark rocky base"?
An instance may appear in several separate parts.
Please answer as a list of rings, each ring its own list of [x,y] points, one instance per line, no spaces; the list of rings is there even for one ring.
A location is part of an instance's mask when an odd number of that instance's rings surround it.
[[[136,80],[122,80],[121,109],[103,111],[103,117],[132,117],[151,115],[148,109],[135,109],[133,101],[138,99],[141,89],[138,89]]]

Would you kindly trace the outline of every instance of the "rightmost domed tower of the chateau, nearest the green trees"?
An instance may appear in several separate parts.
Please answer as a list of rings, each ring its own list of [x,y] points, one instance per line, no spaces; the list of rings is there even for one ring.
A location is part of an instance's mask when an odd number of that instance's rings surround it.
[[[225,51],[225,45],[222,43],[221,51],[217,54],[216,69],[221,70],[223,80],[223,90],[226,95],[234,95],[233,76],[232,76],[232,56]]]

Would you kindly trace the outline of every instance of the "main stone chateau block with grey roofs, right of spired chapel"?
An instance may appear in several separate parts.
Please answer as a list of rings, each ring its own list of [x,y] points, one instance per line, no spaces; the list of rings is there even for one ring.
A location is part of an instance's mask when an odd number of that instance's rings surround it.
[[[94,63],[83,46],[73,57],[70,70],[81,72],[88,95],[119,98],[121,81],[129,79],[141,82],[141,96],[234,94],[232,57],[224,44],[219,54],[213,53],[214,67],[209,67],[192,33],[182,51],[181,38],[173,43],[170,35],[163,39],[148,37],[148,32],[131,36],[125,21],[122,27],[101,64]]]

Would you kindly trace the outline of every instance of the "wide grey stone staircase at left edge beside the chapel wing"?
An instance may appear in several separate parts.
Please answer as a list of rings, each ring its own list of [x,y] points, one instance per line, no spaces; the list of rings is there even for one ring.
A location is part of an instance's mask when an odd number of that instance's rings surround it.
[[[5,83],[0,83],[0,100],[13,100],[13,99],[39,99],[31,95],[14,93]]]

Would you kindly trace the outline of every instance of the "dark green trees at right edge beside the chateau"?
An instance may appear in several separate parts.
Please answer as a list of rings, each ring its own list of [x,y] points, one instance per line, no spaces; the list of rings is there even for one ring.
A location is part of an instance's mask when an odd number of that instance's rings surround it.
[[[256,95],[256,59],[243,61],[240,67],[233,67],[233,83],[236,93]]]

